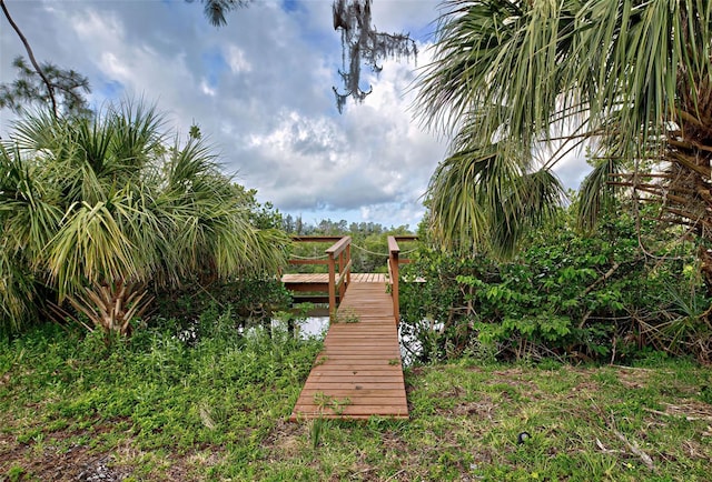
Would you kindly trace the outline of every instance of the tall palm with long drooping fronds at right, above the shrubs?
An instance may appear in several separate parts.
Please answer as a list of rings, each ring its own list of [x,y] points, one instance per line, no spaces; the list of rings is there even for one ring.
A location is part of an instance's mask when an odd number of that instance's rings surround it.
[[[522,224],[561,199],[552,168],[589,142],[599,160],[582,189],[582,225],[595,223],[612,185],[656,199],[661,221],[700,234],[712,288],[710,2],[449,0],[444,9],[418,103],[426,124],[456,134],[428,191],[441,239],[462,244],[472,233],[471,248],[474,239],[511,252]],[[553,143],[556,153],[536,162]]]

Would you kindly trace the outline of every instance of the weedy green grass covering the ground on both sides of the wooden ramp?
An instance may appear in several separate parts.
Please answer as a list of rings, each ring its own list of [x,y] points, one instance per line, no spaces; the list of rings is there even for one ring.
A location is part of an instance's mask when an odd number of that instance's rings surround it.
[[[220,335],[190,345],[170,327],[111,349],[53,327],[0,342],[0,480],[706,481],[712,472],[712,370],[685,360],[465,359],[406,370],[408,421],[290,423],[319,342],[205,322]],[[522,432],[531,436],[518,444]]]

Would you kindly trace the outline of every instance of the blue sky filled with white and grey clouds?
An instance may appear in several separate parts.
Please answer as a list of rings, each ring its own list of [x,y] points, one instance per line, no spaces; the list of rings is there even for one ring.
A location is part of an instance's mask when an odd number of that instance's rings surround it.
[[[89,78],[90,101],[145,99],[187,137],[197,123],[220,154],[226,173],[258,191],[280,212],[307,223],[408,224],[446,140],[414,120],[413,80],[427,63],[441,0],[373,0],[373,26],[409,32],[417,63],[385,61],[363,104],[336,109],[340,34],[332,0],[256,0],[215,28],[199,2],[182,0],[7,0],[40,61]],[[0,81],[14,78],[24,54],[0,18]],[[4,138],[12,116],[0,110]],[[577,187],[580,163],[560,175]]]

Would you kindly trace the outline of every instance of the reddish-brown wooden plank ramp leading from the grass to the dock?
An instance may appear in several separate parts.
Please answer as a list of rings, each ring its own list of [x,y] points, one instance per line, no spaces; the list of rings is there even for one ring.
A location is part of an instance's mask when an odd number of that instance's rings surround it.
[[[290,420],[372,415],[408,418],[398,330],[385,283],[352,281]]]

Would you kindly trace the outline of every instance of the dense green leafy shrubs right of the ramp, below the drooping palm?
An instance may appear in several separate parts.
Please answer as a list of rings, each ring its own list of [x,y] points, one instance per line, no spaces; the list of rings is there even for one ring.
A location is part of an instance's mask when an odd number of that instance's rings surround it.
[[[400,284],[406,347],[423,361],[619,361],[651,350],[710,361],[710,300],[690,242],[627,214],[591,235],[572,224],[561,215],[512,261],[423,250],[403,270],[424,280]]]

